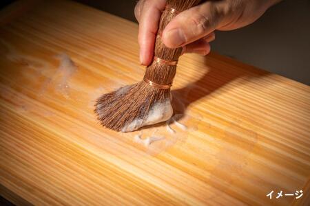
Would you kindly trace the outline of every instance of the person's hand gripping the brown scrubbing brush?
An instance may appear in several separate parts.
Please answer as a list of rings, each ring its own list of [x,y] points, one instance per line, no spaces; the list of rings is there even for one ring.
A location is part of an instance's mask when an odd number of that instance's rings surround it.
[[[163,43],[167,47],[183,47],[185,53],[206,55],[214,30],[235,30],[258,19],[280,0],[210,0],[178,14],[165,27]],[[161,11],[166,0],[140,0],[134,14],[139,23],[138,43],[142,65],[152,62],[154,43]]]

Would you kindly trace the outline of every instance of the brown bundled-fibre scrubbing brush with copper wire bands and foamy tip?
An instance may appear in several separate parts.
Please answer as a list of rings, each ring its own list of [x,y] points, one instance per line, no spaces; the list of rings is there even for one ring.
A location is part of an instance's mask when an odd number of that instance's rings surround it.
[[[174,16],[198,4],[198,0],[168,0],[161,15],[156,36],[154,59],[146,67],[141,82],[102,95],[94,112],[101,124],[112,130],[131,132],[145,125],[165,122],[172,117],[170,87],[182,47],[170,49],[161,41],[161,33]]]

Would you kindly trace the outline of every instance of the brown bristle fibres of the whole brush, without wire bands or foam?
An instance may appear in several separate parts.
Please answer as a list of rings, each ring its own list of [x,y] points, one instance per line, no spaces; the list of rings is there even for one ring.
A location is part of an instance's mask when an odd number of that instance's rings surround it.
[[[197,0],[168,0],[167,5],[180,12],[197,5]],[[158,34],[176,14],[164,11],[161,15]],[[178,60],[182,48],[169,49],[165,47],[159,35],[156,36],[154,55],[163,60]],[[157,84],[169,84],[176,74],[176,66],[161,65],[152,62],[146,68],[145,78]],[[143,119],[149,108],[155,103],[163,103],[170,99],[170,89],[158,89],[144,81],[122,87],[112,93],[102,95],[96,100],[94,112],[101,124],[112,130],[121,131],[134,119]]]

